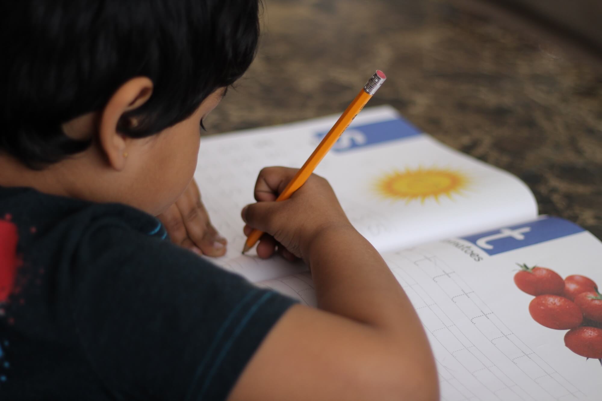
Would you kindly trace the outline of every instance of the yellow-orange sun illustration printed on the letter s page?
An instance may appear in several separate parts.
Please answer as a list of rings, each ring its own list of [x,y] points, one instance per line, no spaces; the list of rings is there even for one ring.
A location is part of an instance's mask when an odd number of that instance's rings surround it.
[[[406,204],[420,199],[433,197],[439,203],[439,196],[453,200],[452,194],[464,195],[470,185],[470,178],[464,173],[452,169],[430,167],[423,169],[394,170],[386,173],[376,182],[376,191],[385,199],[406,201]]]

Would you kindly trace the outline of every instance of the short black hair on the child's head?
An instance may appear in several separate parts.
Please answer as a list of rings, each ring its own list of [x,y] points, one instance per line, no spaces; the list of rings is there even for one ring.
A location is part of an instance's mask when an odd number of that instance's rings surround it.
[[[2,1],[0,152],[42,168],[83,151],[90,141],[61,125],[102,110],[135,76],[152,80],[152,96],[119,132],[141,138],[175,125],[247,70],[258,9],[259,0]]]

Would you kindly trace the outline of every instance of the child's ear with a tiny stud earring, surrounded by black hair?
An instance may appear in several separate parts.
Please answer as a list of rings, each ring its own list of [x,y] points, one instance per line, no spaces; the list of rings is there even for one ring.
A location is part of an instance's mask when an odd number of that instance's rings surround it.
[[[132,78],[121,85],[102,110],[99,127],[99,145],[113,169],[122,170],[128,158],[131,138],[117,131],[124,113],[143,105],[152,95],[152,81],[146,76]],[[135,124],[135,121],[131,122]]]

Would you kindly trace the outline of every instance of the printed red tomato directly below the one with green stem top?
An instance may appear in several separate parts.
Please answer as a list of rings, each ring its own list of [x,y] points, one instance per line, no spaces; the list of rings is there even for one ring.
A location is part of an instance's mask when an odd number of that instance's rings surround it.
[[[556,330],[576,328],[583,313],[575,303],[557,295],[539,295],[529,303],[529,313],[535,322]]]

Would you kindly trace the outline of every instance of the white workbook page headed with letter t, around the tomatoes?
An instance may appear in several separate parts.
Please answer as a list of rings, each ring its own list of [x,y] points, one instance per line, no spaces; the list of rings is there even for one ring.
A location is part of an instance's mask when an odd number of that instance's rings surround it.
[[[519,228],[530,228],[523,240],[489,241],[493,250],[498,244],[504,250],[493,255],[476,242],[495,232],[383,255],[423,322],[442,400],[600,400],[600,362],[566,348],[566,330],[545,328],[532,319],[533,296],[518,289],[514,275],[516,263],[526,263],[552,269],[562,278],[585,275],[602,284],[602,243],[560,219],[510,227]],[[532,245],[514,249],[532,238]],[[307,276],[259,285],[315,306]]]

